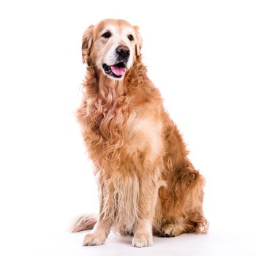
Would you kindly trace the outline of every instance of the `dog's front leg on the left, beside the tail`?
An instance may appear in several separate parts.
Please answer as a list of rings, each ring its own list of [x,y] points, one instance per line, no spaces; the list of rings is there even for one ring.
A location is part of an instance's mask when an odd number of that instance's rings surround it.
[[[102,193],[102,189],[103,188],[99,186],[99,219],[94,229],[91,230],[91,233],[85,236],[83,246],[105,244],[108,234],[110,233],[112,221],[110,218],[105,218],[105,214],[103,214],[104,193]]]

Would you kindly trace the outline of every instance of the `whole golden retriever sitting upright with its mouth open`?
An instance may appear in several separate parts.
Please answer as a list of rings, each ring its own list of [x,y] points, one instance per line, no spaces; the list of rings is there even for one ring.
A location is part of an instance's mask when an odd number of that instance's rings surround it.
[[[138,26],[107,19],[83,34],[87,64],[77,111],[99,190],[99,215],[79,217],[72,231],[92,229],[83,245],[104,244],[110,229],[150,246],[152,236],[207,233],[205,179],[189,161],[159,90],[146,75]]]

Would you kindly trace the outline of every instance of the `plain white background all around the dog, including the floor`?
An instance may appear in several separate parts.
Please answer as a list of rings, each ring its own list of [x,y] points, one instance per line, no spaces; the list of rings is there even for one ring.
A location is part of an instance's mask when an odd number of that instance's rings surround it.
[[[1,1],[0,244],[9,255],[256,255],[255,1]],[[206,176],[206,236],[83,247],[69,221],[97,212],[74,113],[81,36],[104,18],[140,26],[148,76]]]

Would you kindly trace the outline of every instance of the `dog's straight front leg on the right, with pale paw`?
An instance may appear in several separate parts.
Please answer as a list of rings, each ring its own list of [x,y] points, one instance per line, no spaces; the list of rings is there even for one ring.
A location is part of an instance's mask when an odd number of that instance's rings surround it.
[[[139,212],[140,219],[135,224],[132,245],[135,247],[151,246],[153,244],[152,222],[157,203],[158,187],[151,177],[140,178]]]

